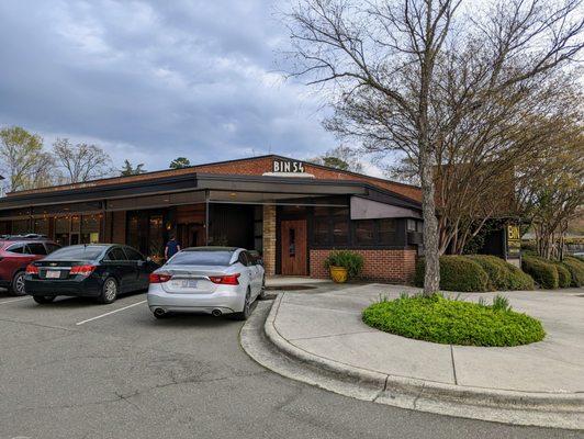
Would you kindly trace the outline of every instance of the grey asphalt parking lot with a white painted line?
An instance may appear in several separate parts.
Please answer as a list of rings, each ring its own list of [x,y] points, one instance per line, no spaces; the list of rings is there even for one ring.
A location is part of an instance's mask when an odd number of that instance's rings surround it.
[[[0,438],[575,438],[356,401],[267,371],[242,323],[0,294]]]

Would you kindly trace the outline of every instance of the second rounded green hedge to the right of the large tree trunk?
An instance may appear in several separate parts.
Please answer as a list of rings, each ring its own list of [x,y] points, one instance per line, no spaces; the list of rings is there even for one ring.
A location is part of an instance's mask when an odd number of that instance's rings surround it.
[[[488,275],[490,290],[534,290],[534,279],[517,267],[492,255],[469,255]]]

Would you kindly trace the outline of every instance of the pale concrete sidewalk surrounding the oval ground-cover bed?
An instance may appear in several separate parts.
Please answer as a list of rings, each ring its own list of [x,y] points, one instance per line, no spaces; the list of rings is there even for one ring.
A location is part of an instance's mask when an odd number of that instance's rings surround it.
[[[514,348],[431,344],[361,322],[361,311],[380,294],[397,297],[403,291],[417,290],[368,284],[281,293],[266,320],[266,335],[307,365],[379,387],[375,402],[437,413],[445,413],[443,404],[437,407],[446,402],[457,416],[475,417],[476,407],[487,407],[490,414],[479,409],[478,417],[584,428],[584,296],[579,296],[584,289],[504,293],[515,311],[540,318],[548,333],[541,342]],[[507,413],[498,416],[498,408]]]

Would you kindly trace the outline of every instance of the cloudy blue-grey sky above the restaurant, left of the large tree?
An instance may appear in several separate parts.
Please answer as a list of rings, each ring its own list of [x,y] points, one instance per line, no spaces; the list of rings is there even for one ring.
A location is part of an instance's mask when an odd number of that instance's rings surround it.
[[[337,145],[279,72],[278,0],[0,1],[0,126],[161,169]]]

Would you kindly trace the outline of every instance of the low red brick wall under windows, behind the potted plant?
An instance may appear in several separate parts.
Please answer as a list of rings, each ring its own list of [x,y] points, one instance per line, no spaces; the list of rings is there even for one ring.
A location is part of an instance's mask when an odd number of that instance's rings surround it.
[[[324,261],[333,250],[311,250],[311,277],[329,277]],[[351,250],[364,259],[360,279],[381,282],[408,283],[416,269],[416,250]]]

